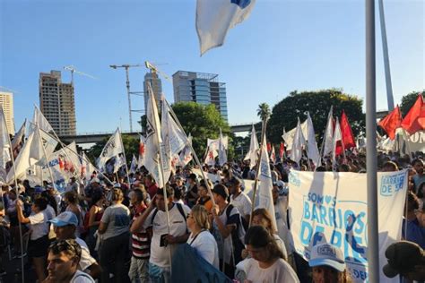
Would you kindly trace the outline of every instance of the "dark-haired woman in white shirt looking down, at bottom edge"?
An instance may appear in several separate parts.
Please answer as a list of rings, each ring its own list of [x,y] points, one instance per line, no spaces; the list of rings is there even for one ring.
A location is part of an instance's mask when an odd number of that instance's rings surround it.
[[[245,235],[247,251],[251,256],[244,265],[247,283],[298,283],[291,265],[283,260],[282,250],[273,236],[262,226],[253,226]]]

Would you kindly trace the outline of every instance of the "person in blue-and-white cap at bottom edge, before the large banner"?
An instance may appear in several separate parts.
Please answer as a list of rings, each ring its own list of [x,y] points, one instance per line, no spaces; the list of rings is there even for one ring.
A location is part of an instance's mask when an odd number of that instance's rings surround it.
[[[313,268],[313,283],[343,283],[349,280],[343,252],[332,244],[315,245],[308,265]]]

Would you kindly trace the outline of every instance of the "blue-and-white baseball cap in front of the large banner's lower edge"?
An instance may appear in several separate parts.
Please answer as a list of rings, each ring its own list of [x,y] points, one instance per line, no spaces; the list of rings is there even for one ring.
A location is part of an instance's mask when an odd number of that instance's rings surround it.
[[[325,265],[340,272],[345,270],[343,252],[340,248],[327,243],[317,244],[313,247],[308,265],[310,267]]]

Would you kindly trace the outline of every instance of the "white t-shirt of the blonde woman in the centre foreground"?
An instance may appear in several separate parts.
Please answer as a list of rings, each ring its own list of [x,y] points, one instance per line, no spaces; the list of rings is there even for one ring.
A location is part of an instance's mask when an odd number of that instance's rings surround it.
[[[205,230],[195,236],[191,233],[187,239],[187,244],[195,248],[196,252],[204,258],[205,261],[210,262],[216,269],[219,269],[219,249],[217,242],[215,242],[212,234]]]

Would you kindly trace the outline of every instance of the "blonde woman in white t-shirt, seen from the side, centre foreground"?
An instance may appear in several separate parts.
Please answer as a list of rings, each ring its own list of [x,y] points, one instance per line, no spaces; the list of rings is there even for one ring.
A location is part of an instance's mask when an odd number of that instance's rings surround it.
[[[195,248],[205,261],[219,269],[219,250],[217,242],[209,231],[208,211],[203,205],[196,204],[192,208],[187,215],[187,227],[191,232],[187,244]]]

